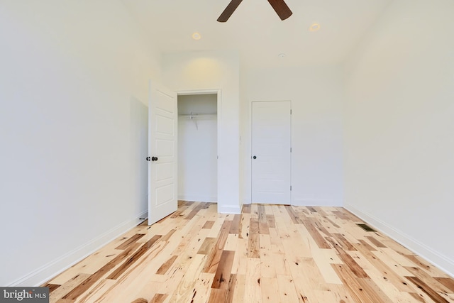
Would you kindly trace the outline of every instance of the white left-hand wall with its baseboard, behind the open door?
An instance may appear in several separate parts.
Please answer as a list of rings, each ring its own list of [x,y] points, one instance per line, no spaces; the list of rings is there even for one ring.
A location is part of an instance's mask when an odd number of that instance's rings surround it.
[[[30,286],[145,215],[159,63],[119,1],[0,6],[0,285]]]

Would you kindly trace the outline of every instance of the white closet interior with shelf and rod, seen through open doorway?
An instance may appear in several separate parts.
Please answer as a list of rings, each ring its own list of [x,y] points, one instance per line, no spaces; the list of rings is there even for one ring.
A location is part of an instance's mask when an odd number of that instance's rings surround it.
[[[218,119],[216,94],[178,96],[178,199],[218,200]]]

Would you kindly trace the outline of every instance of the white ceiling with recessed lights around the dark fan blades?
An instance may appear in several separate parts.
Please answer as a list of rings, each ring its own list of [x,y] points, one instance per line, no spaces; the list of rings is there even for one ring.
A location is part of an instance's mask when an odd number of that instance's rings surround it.
[[[230,0],[123,0],[162,53],[238,50],[242,65],[273,67],[342,62],[393,0],[285,0],[281,21],[267,0],[243,0],[226,23]],[[312,23],[320,31],[310,32]],[[201,34],[193,40],[192,33]],[[286,57],[279,57],[285,53]]]

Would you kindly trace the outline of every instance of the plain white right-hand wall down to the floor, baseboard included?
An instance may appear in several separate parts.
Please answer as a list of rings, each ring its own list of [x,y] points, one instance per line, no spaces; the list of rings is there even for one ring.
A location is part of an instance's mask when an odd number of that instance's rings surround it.
[[[454,274],[454,1],[394,1],[346,65],[345,206]]]

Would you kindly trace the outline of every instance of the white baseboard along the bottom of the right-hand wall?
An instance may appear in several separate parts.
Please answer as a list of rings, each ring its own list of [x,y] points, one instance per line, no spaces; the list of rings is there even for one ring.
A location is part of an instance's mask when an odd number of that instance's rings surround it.
[[[351,205],[345,205],[344,208],[348,209],[348,211],[351,211],[363,221],[366,221],[367,224],[370,224],[372,227],[377,228],[377,230],[389,236],[389,238],[392,238],[394,241],[402,244],[417,255],[425,258],[426,260],[428,260],[428,262],[432,263],[437,268],[440,268],[451,277],[454,277],[454,260],[448,258],[446,255],[438,253],[429,246],[426,246],[426,244],[421,243],[420,241],[412,238],[406,233],[403,233],[402,231],[389,226],[389,224],[380,219],[377,219],[371,214],[366,214],[365,212],[360,211]]]

